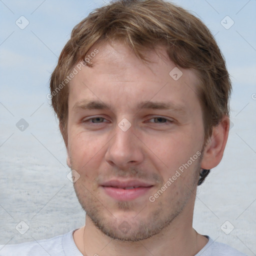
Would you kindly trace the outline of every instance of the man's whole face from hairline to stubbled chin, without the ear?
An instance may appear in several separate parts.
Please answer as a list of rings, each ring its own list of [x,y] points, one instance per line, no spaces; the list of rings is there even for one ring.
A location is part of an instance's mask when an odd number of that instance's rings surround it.
[[[119,42],[95,48],[93,67],[69,84],[74,189],[103,233],[145,239],[192,214],[204,139],[198,79],[181,68],[171,76],[175,64],[160,46],[148,63]]]

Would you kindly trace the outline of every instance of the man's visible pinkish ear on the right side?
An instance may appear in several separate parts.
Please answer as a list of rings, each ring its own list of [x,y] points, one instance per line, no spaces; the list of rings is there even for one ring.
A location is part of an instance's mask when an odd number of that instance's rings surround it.
[[[212,128],[211,137],[207,140],[203,150],[201,168],[211,169],[222,159],[229,131],[229,117],[223,116],[220,123]]]

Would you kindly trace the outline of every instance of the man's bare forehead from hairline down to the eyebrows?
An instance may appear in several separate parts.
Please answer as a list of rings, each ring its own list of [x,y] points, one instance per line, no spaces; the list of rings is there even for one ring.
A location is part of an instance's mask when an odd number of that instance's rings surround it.
[[[176,67],[164,46],[144,54],[149,62],[143,62],[120,42],[93,45],[86,54],[93,67],[85,65],[70,81],[69,106],[93,99],[121,108],[150,99],[166,101],[166,97],[185,105],[186,97],[192,94],[193,100],[198,100],[198,78],[192,69]]]

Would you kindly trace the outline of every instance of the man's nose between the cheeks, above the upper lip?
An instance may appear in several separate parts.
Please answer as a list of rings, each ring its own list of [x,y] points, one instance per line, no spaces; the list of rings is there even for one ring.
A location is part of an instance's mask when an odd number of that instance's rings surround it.
[[[108,143],[105,160],[122,169],[137,165],[144,158],[142,146],[143,143],[135,135],[132,125],[126,131],[116,125],[115,135]]]

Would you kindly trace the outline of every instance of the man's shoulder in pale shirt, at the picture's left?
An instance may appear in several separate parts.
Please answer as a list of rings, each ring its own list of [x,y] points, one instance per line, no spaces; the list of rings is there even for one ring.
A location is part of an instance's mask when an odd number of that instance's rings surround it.
[[[55,236],[50,239],[0,245],[0,256],[61,256],[64,255],[62,239],[67,234]]]

